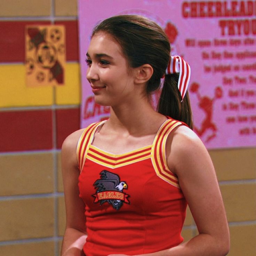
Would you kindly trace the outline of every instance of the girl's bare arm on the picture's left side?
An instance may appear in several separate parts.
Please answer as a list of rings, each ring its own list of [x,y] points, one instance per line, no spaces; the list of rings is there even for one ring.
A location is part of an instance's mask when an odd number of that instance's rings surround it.
[[[66,230],[61,256],[82,256],[86,241],[85,204],[79,197],[77,143],[82,130],[69,135],[62,144],[61,164],[66,205]]]

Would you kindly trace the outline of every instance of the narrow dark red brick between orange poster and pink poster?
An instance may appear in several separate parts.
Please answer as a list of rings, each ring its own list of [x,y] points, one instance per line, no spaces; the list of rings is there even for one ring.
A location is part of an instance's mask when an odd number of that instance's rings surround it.
[[[64,25],[66,29],[66,59],[78,61],[78,24],[77,21],[56,21],[56,25]]]

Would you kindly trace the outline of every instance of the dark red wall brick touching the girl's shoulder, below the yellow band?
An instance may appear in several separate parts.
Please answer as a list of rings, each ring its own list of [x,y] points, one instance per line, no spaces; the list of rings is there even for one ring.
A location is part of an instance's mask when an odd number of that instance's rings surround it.
[[[61,149],[64,139],[80,129],[80,109],[56,110],[57,149]]]

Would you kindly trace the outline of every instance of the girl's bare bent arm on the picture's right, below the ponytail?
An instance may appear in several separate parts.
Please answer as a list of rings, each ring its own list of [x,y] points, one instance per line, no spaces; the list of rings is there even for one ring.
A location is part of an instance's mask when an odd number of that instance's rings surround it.
[[[178,176],[199,234],[176,247],[144,256],[227,255],[229,228],[214,166],[205,146],[189,128],[181,126],[170,134],[167,165]]]

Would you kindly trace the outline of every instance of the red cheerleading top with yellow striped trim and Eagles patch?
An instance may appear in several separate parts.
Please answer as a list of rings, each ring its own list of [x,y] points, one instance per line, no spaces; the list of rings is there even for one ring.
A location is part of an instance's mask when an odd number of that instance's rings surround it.
[[[152,145],[111,154],[91,145],[104,122],[89,125],[77,147],[88,233],[85,255],[137,255],[177,246],[183,241],[187,203],[167,167],[165,144],[183,123],[167,119]]]

